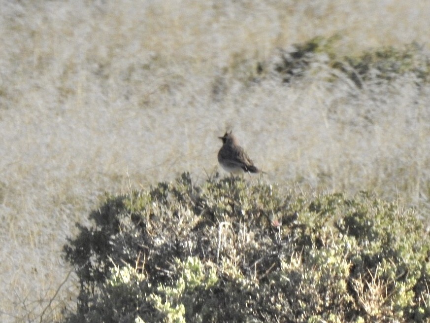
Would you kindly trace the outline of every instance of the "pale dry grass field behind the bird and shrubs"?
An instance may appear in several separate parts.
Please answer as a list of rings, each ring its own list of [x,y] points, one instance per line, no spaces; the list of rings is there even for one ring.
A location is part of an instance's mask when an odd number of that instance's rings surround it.
[[[429,203],[428,82],[404,73],[358,88],[333,79],[324,55],[288,83],[274,72],[279,48],[315,36],[339,35],[337,57],[426,50],[427,1],[0,5],[1,322],[39,321],[69,272],[66,236],[103,191],[205,178],[227,127],[268,181]]]

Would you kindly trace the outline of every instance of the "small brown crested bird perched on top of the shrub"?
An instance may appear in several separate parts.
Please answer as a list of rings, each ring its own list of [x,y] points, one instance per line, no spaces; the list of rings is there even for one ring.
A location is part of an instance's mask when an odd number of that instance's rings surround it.
[[[218,162],[225,171],[237,173],[243,170],[248,173],[264,173],[254,165],[254,162],[237,142],[236,137],[232,135],[232,131],[226,132],[223,137],[218,138],[223,141],[223,146],[218,151]]]

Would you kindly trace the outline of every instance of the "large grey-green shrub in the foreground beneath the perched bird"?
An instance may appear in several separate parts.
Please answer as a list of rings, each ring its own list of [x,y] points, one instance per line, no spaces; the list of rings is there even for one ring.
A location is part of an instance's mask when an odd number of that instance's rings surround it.
[[[107,196],[65,246],[66,322],[423,322],[429,240],[414,210],[367,193],[306,196],[187,173]]]

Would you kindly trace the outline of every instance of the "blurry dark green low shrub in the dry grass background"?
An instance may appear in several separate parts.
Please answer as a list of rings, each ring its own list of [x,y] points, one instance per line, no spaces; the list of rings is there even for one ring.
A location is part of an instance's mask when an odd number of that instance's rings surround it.
[[[315,37],[308,42],[280,49],[274,57],[273,71],[285,83],[290,83],[295,77],[325,71],[328,81],[346,76],[359,89],[363,88],[364,83],[380,86],[402,75],[414,77],[417,84],[430,81],[429,53],[424,46],[411,43],[402,49],[390,46],[365,51],[357,56],[340,57],[334,49],[340,38],[337,35]]]

